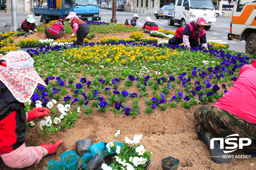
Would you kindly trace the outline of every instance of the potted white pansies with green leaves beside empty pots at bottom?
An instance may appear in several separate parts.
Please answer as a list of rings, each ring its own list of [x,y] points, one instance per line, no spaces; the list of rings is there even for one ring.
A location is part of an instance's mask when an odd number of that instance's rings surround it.
[[[117,130],[115,136],[120,135],[120,130]],[[116,146],[113,142],[107,144],[107,148],[114,149],[117,153],[114,163],[111,165],[102,164],[102,170],[143,170],[147,165],[152,152],[144,149],[144,146],[139,144],[142,134],[134,135],[133,140],[125,137],[122,142],[122,147]],[[121,139],[121,135],[120,135]]]

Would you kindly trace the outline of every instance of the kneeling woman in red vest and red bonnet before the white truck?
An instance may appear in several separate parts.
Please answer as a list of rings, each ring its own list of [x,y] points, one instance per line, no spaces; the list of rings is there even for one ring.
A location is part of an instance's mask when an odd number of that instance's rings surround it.
[[[178,28],[175,32],[175,36],[169,39],[169,44],[178,45],[183,43],[184,46],[190,48],[198,46],[199,39],[202,47],[207,47],[207,39],[205,29],[209,25],[202,17],[198,17],[194,21],[191,21],[186,26]]]

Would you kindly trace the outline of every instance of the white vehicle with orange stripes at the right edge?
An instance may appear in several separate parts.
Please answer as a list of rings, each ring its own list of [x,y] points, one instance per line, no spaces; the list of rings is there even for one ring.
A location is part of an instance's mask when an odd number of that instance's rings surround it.
[[[256,1],[237,0],[230,16],[228,40],[245,40],[245,52],[256,55]]]

